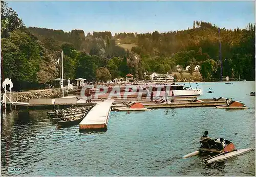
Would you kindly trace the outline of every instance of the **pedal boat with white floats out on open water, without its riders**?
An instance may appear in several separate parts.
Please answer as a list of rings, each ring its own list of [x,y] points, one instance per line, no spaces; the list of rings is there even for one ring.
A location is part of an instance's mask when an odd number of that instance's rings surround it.
[[[215,139],[216,141],[217,139]],[[204,161],[207,162],[207,164],[213,163],[213,162],[219,162],[234,156],[239,156],[244,153],[247,153],[250,150],[253,150],[252,148],[245,148],[245,149],[236,149],[234,144],[231,141],[225,140],[226,146],[223,148],[222,144],[219,142],[214,142],[213,145],[209,145],[208,141],[202,141],[200,140],[200,148],[193,152],[189,153],[185,156],[183,156],[183,159],[197,156],[197,155],[210,155],[212,157],[205,159]]]

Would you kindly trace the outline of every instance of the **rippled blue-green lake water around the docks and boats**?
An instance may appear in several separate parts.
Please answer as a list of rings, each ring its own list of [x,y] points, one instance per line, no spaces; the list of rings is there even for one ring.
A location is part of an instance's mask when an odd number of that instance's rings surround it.
[[[255,97],[246,96],[255,82],[191,86],[203,89],[201,98],[233,98],[250,109],[111,112],[108,131],[101,133],[79,133],[79,125],[57,130],[46,110],[6,112],[2,175],[255,175],[255,151],[211,165],[202,157],[182,159],[198,149],[205,130],[238,149],[255,147]]]

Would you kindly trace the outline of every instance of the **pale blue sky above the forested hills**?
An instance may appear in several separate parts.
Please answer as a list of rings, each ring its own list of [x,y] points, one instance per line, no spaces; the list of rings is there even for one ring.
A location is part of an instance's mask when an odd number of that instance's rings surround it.
[[[255,23],[254,2],[244,1],[24,1],[8,2],[27,27],[146,33],[186,30],[194,20],[240,29]]]

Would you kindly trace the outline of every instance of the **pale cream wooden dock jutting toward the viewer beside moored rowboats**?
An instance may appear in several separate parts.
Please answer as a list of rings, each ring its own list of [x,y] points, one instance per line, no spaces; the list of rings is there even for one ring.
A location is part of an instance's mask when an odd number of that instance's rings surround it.
[[[109,122],[109,114],[114,99],[106,99],[98,103],[80,122],[79,130],[106,130]]]

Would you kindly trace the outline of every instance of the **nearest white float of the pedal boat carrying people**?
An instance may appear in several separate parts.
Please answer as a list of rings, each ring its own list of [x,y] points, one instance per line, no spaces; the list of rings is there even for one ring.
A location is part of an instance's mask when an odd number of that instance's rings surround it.
[[[221,155],[219,155],[217,157],[211,158],[211,159],[207,160],[206,162],[208,164],[213,163],[213,162],[219,162],[219,161],[222,161],[222,160],[234,157],[234,156],[242,155],[244,153],[247,153],[250,150],[252,150],[252,149],[251,148],[237,149],[237,150],[231,151],[230,153],[221,154]]]

